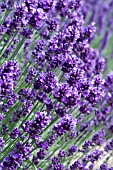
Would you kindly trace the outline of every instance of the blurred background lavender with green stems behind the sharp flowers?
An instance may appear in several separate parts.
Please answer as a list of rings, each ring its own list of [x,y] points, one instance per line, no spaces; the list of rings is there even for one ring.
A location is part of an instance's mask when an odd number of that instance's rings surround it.
[[[84,0],[82,8],[86,24],[96,23],[96,34],[91,39],[91,46],[98,48],[99,53],[106,59],[106,73],[113,69],[113,1]]]

